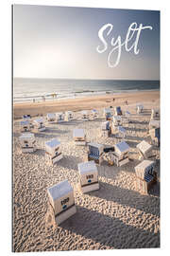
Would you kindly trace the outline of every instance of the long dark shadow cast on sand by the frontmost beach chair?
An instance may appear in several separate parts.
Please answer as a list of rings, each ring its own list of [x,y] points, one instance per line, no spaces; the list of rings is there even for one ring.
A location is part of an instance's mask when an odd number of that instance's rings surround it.
[[[144,229],[137,229],[126,225],[119,218],[77,205],[76,214],[59,227],[85,239],[93,240],[104,249],[160,247],[160,233],[155,234]],[[143,243],[141,243],[141,237],[143,237]],[[153,243],[150,243],[150,239]],[[90,245],[87,243],[84,249],[93,249],[93,242]]]

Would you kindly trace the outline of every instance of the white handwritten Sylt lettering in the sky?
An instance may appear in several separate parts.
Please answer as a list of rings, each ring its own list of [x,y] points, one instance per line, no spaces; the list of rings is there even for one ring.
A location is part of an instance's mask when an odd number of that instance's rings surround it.
[[[104,33],[106,33],[106,36],[108,37],[110,35],[111,30],[113,29],[112,24],[106,24],[103,27],[101,27],[98,31],[98,37],[100,41],[102,42],[102,46],[97,46],[96,50],[98,53],[103,53],[108,49],[108,43],[107,40],[104,38]],[[113,46],[110,50],[110,53],[108,55],[108,65],[110,67],[115,67],[119,64],[120,58],[121,58],[121,52],[122,52],[122,46],[125,46],[126,51],[130,51],[133,49],[134,54],[139,53],[138,43],[140,39],[140,35],[142,30],[144,29],[151,29],[151,26],[145,26],[143,27],[143,24],[140,24],[138,27],[137,23],[132,23],[128,29],[127,29],[127,36],[125,39],[125,42],[122,42],[122,38],[119,35],[117,39],[114,37],[110,40],[110,46]],[[131,43],[131,44],[130,44]],[[113,54],[116,54],[114,62],[111,61],[113,58]]]

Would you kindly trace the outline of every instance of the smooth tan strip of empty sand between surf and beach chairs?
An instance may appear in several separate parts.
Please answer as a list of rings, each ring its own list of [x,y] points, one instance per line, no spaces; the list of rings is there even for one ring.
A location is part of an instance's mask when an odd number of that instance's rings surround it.
[[[113,101],[114,99],[114,101]],[[126,102],[127,101],[127,105]],[[24,102],[13,103],[13,118],[19,119],[23,115],[29,114],[32,117],[37,115],[46,115],[47,113],[61,112],[61,111],[80,111],[91,110],[93,108],[109,107],[121,105],[122,107],[136,104],[138,102],[160,101],[160,90],[154,91],[138,91],[117,94],[105,94],[86,96],[75,99],[59,99],[54,101],[41,102]]]

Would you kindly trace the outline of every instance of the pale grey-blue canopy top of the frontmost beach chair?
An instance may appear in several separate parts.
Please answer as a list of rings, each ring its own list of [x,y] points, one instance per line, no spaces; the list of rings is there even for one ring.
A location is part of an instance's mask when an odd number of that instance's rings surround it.
[[[73,192],[73,188],[66,179],[59,182],[57,185],[48,188],[47,192],[50,194],[53,200],[56,201],[60,197],[68,194],[69,192]]]

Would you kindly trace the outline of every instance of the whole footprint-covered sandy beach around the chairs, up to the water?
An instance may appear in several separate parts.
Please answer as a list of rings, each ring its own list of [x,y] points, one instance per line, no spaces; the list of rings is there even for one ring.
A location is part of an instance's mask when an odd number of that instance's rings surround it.
[[[113,101],[114,99],[114,101]],[[127,104],[126,104],[127,101]],[[144,104],[144,113],[136,115],[136,103]],[[122,166],[97,165],[100,189],[79,191],[77,164],[84,161],[86,146],[76,146],[73,129],[83,128],[87,141],[105,145],[115,137],[101,137],[103,108],[121,106],[130,111],[132,123],[125,126],[130,146],[130,161]],[[83,121],[79,110],[97,109],[98,119]],[[17,103],[13,106],[13,251],[97,250],[160,247],[160,148],[154,146],[152,159],[157,162],[158,181],[148,195],[135,190],[134,167],[140,163],[136,145],[150,142],[147,133],[152,108],[160,108],[160,91],[108,94],[76,100]],[[22,154],[20,120],[25,114],[33,119],[46,113],[72,110],[75,119],[48,124],[35,133],[38,150]],[[58,137],[63,158],[53,167],[45,162],[44,142]],[[76,214],[55,225],[48,218],[46,189],[68,179],[75,190]]]

